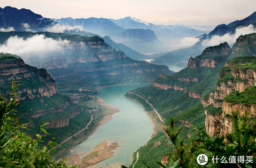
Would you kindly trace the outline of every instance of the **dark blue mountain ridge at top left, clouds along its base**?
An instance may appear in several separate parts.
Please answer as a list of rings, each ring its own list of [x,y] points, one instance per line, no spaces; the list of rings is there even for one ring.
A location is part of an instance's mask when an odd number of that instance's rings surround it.
[[[0,31],[58,32],[95,36],[72,27],[59,24],[52,19],[42,17],[29,9],[5,7],[0,8]]]

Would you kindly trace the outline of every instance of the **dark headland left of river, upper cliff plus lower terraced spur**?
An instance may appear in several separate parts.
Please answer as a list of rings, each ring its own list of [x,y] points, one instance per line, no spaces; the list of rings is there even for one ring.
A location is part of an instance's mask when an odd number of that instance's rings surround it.
[[[19,86],[16,93],[20,94],[17,95],[16,99],[20,100],[21,104],[23,103],[21,109],[17,109],[17,115],[23,119],[30,119],[27,127],[34,127],[35,121],[37,124],[50,122],[46,128],[68,126],[69,119],[80,113],[80,108],[74,105],[70,98],[57,95],[55,81],[47,73],[46,69],[31,67],[17,56],[1,54],[0,94],[2,96],[8,97],[10,95],[12,81],[18,81]],[[55,101],[60,104],[59,107],[52,107],[47,103],[53,101],[54,97],[57,99]],[[47,100],[47,102],[44,102],[44,100]],[[70,108],[71,106],[73,108]],[[33,109],[37,110],[34,111]],[[62,116],[62,113],[65,113],[63,116],[67,117],[54,117],[54,119],[51,119],[53,118],[52,115]],[[44,121],[42,117],[46,115],[48,115],[47,121]],[[40,117],[41,119],[38,123],[37,120]]]

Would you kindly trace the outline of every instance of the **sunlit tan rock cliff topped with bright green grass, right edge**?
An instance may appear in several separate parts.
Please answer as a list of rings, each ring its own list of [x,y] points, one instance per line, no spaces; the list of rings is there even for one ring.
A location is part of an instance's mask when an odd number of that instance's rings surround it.
[[[201,104],[206,107],[213,104],[215,108],[222,108],[222,113],[217,113],[215,116],[206,112],[206,131],[211,136],[223,136],[229,133],[232,129],[232,119],[230,116],[233,111],[239,111],[238,115],[242,116],[245,111],[250,111],[251,118],[256,117],[256,105],[254,103],[244,103],[245,101],[229,102],[237,98],[236,94],[244,92],[248,87],[256,86],[256,57],[240,57],[227,62],[227,67],[224,67],[216,84],[214,92],[210,93],[209,98],[201,100]],[[237,92],[234,98],[226,100],[227,96]],[[244,93],[245,95],[249,93]]]

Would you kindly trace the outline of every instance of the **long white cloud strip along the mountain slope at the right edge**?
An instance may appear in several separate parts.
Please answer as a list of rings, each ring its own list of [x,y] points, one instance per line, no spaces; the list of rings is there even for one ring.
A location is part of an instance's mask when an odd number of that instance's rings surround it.
[[[228,33],[223,36],[214,35],[210,39],[204,40],[202,42],[202,45],[204,47],[209,47],[209,46],[219,45],[220,43],[223,43],[223,42],[228,42],[228,44],[231,45],[236,42],[237,38],[240,35],[251,34],[251,33],[255,33],[255,32],[256,32],[256,30],[254,29],[253,25],[248,25],[247,27],[238,27],[236,29],[235,34]]]

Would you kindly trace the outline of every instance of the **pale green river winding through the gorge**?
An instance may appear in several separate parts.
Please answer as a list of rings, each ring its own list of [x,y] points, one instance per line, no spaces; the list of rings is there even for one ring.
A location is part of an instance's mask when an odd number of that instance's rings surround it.
[[[148,84],[128,84],[106,87],[99,92],[105,103],[120,109],[118,114],[101,125],[97,131],[92,134],[86,141],[74,147],[72,153],[83,153],[83,156],[104,140],[119,142],[121,147],[119,152],[113,157],[101,161],[98,166],[108,166],[115,162],[129,166],[132,154],[146,144],[153,133],[153,124],[147,117],[144,109],[140,104],[124,97],[124,94],[137,87]]]

